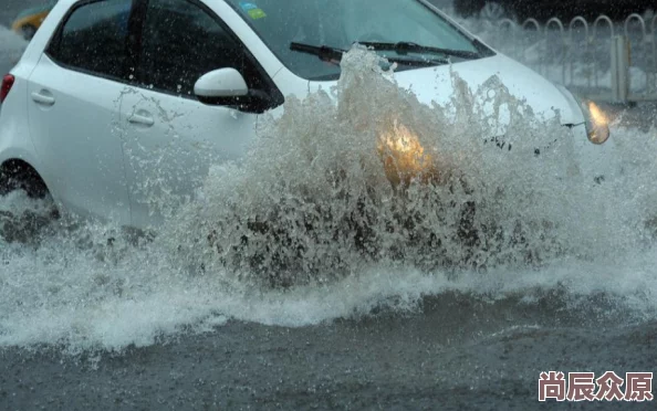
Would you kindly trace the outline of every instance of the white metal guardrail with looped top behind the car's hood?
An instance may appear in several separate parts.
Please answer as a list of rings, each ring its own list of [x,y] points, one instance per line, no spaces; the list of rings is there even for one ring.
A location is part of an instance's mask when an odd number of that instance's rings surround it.
[[[657,15],[497,22],[486,40],[553,82],[599,101],[657,101]]]

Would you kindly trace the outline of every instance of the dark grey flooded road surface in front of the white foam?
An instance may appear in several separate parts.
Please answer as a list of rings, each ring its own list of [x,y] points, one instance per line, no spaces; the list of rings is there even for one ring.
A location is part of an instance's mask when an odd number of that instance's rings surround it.
[[[657,363],[655,322],[545,318],[559,313],[557,296],[524,312],[517,304],[441,295],[413,315],[302,328],[229,322],[207,335],[75,360],[52,348],[3,349],[0,401],[7,410],[535,410],[556,405],[538,401],[543,370],[624,376]]]

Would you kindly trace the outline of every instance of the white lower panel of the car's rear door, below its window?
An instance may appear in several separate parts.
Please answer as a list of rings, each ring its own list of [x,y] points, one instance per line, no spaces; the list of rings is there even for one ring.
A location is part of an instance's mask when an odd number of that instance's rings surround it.
[[[28,120],[49,189],[75,212],[129,221],[117,129],[122,85],[67,70],[43,54],[28,83]],[[39,103],[36,95],[54,104]],[[98,125],[102,125],[98,127]]]

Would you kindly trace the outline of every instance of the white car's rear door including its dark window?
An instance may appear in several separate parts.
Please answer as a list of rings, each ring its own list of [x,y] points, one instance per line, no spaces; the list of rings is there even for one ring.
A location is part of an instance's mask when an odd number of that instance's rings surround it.
[[[30,75],[30,134],[51,192],[73,211],[129,223],[119,129],[132,0],[83,1]]]

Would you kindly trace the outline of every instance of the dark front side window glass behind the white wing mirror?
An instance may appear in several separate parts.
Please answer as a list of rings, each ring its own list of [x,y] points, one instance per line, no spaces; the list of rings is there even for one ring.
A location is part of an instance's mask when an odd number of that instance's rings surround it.
[[[238,70],[253,87],[259,76],[241,42],[208,11],[186,0],[150,0],[137,80],[144,86],[194,97],[196,81],[217,68]]]

